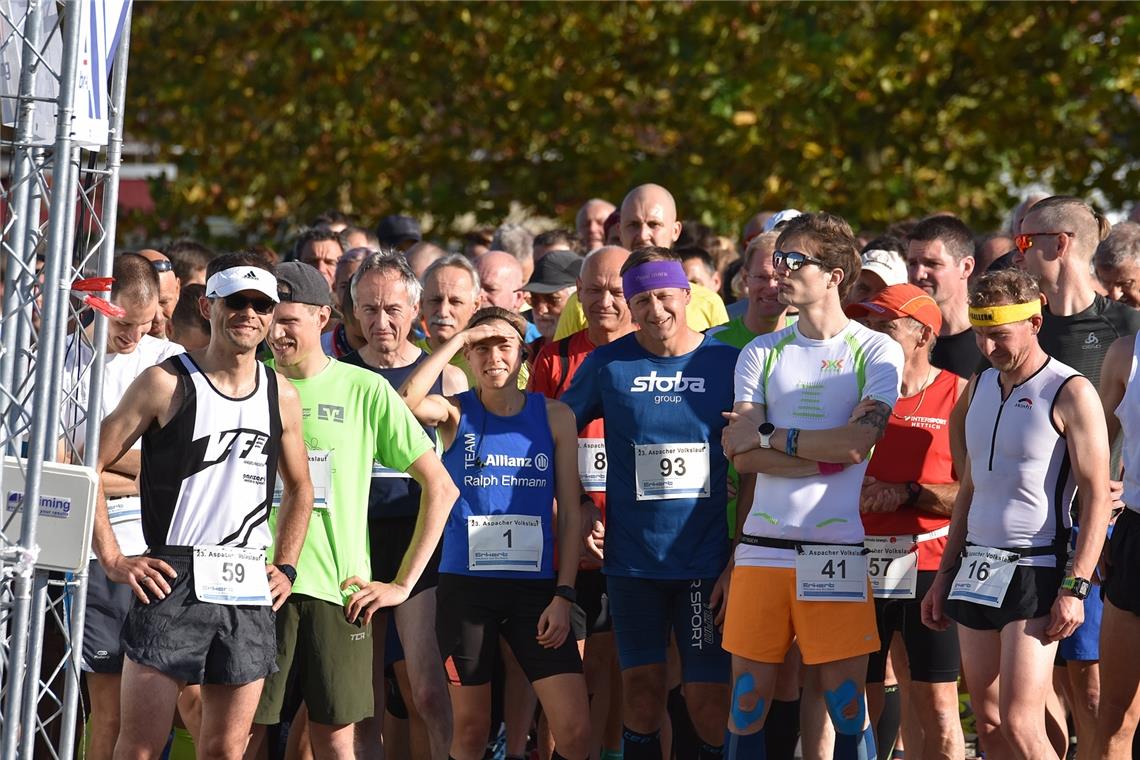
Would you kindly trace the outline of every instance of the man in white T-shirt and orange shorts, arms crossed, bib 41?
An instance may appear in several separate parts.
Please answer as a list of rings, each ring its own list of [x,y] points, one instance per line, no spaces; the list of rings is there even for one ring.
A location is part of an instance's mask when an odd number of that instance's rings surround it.
[[[842,219],[791,220],[773,262],[780,300],[799,310],[799,320],[741,352],[724,434],[736,469],[757,473],[726,571],[733,690],[725,757],[763,757],[776,673],[795,639],[804,662],[820,665],[834,757],[873,758],[863,692],[879,637],[860,490],[898,398],[903,352],[844,314],[860,256]]]

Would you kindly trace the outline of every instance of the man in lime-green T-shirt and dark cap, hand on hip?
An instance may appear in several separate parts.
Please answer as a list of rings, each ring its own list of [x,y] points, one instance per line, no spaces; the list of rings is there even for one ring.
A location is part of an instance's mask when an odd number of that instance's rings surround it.
[[[279,670],[266,679],[252,745],[260,743],[266,725],[283,718],[285,686],[296,669],[317,755],[352,758],[352,724],[373,713],[372,615],[407,599],[458,492],[391,385],[323,353],[320,332],[332,311],[332,294],[320,272],[287,262],[276,273],[280,303],[274,310],[269,348],[275,368],[301,398],[314,510],[293,596],[277,613]],[[374,460],[407,472],[423,490],[412,545],[391,583],[368,580]]]

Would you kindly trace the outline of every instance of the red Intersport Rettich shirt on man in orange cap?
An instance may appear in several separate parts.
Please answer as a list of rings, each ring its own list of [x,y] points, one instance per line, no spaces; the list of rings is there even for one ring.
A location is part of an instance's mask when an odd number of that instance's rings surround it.
[[[958,375],[945,369],[923,391],[898,399],[866,474],[886,483],[956,482],[950,456],[950,412],[956,401]],[[917,536],[948,524],[950,517],[917,507],[863,515],[868,536]],[[938,570],[945,548],[945,537],[919,544],[919,570]]]

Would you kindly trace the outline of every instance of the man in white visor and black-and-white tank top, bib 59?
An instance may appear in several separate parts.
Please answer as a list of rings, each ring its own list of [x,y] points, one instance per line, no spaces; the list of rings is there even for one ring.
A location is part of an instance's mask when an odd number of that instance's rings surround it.
[[[267,374],[255,356],[277,302],[276,278],[255,254],[219,256],[206,276],[201,308],[211,322],[210,344],[189,354],[181,370],[164,362],[142,373],[105,419],[99,439],[101,473],[146,433],[140,492],[148,553],[123,556],[101,489],[95,524],[95,551],[108,578],[129,585],[137,597],[123,628],[116,749],[124,757],[160,755],[174,702],[188,684],[211,685],[202,695],[198,751],[242,753],[262,680],[275,668],[272,610],[292,589],[312,509],[296,391]],[[236,430],[201,433],[211,423],[234,422],[203,422],[195,412],[199,389],[214,393],[215,403],[231,404],[242,420],[249,416],[263,425],[243,430],[239,422]],[[188,433],[181,455],[166,452],[154,461],[148,441],[176,428]],[[165,476],[179,464],[178,481],[147,487],[148,469]],[[274,538],[276,564],[266,564],[274,464],[285,496]],[[209,498],[187,498],[187,491]],[[231,492],[243,498],[235,501]],[[246,500],[261,496],[263,505]],[[230,530],[235,516],[237,531]]]

